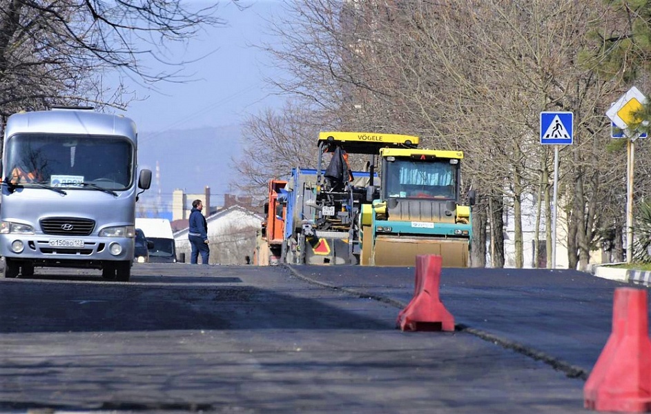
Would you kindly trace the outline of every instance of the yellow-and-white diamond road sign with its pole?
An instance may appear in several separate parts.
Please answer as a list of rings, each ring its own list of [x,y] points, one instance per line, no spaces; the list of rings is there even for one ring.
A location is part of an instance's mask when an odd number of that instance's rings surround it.
[[[635,140],[646,137],[637,130],[630,129],[632,124],[639,124],[635,113],[643,108],[647,99],[645,95],[634,86],[621,98],[610,106],[606,115],[617,128],[623,131],[628,138],[626,143],[626,263],[633,258],[633,161],[635,158]],[[614,137],[611,132],[611,137]]]

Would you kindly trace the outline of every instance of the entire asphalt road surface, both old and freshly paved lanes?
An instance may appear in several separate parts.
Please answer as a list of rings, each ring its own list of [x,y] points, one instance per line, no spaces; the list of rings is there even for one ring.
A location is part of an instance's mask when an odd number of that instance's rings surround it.
[[[444,269],[462,329],[403,333],[414,268],[37,269],[0,279],[0,411],[585,412],[616,286]]]

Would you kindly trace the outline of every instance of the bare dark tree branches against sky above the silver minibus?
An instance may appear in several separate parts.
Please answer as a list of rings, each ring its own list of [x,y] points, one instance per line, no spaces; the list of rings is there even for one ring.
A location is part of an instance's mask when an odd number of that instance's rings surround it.
[[[51,103],[124,109],[126,89],[102,75],[119,70],[147,85],[184,81],[184,62],[155,72],[142,57],[164,59],[169,42],[186,42],[204,25],[221,25],[217,6],[182,0],[6,0],[0,3],[0,116]]]

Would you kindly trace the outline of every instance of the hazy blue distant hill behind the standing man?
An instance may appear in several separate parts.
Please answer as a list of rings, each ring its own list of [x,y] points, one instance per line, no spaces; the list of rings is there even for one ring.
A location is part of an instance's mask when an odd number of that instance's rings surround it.
[[[160,167],[160,193],[164,203],[171,202],[177,188],[186,193],[203,193],[210,186],[211,195],[220,199],[229,193],[229,181],[235,178],[229,168],[231,159],[241,151],[240,125],[217,128],[142,131],[138,134],[138,164],[153,172],[147,199],[157,196],[156,162]],[[213,203],[211,203],[213,204]]]

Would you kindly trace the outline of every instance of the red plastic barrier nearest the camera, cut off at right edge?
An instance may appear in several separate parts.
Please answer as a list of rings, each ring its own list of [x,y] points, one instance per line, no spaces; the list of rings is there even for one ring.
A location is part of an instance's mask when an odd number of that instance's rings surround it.
[[[647,291],[616,288],[612,333],[583,387],[585,408],[651,411],[651,341]]]

